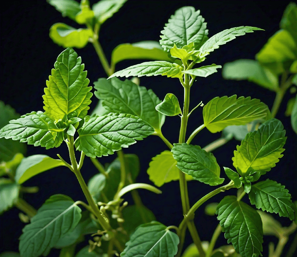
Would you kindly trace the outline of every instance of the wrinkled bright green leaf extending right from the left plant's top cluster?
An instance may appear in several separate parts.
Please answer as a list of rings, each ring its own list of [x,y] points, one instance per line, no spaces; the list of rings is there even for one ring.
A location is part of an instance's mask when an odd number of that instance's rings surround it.
[[[75,146],[89,157],[101,157],[135,144],[153,132],[149,124],[131,114],[93,116],[78,130]]]

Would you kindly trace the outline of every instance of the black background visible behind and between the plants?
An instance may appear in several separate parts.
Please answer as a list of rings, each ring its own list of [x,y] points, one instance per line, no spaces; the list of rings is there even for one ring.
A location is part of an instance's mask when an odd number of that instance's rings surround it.
[[[94,4],[96,1],[90,1]],[[237,26],[256,26],[265,31],[255,31],[222,45],[212,52],[202,65],[216,63],[223,65],[236,59],[254,59],[255,54],[261,49],[271,35],[279,29],[279,21],[289,1],[133,1],[129,0],[112,18],[108,19],[101,27],[99,40],[105,50],[106,56],[110,58],[111,51],[120,43],[133,43],[142,40],[159,40],[160,31],[167,23],[170,15],[182,6],[191,5],[200,9],[201,15],[207,22],[209,37],[224,30]],[[62,47],[54,44],[48,36],[49,28],[53,23],[64,22],[78,28],[78,25],[61,14],[45,1],[8,1],[1,6],[1,84],[0,100],[11,105],[20,114],[31,111],[42,111],[42,95],[46,86],[45,81],[50,75],[53,64],[63,51]],[[83,49],[75,49],[85,63],[88,70],[90,85],[100,77],[106,77],[99,63],[98,57],[89,43]],[[119,63],[116,70],[124,69],[141,61],[123,61]],[[141,77],[140,84],[153,91],[163,99],[166,93],[175,94],[180,103],[183,101],[183,88],[178,79],[162,76]],[[94,90],[92,91],[94,92]],[[207,78],[197,78],[197,82],[191,88],[190,109],[195,107],[201,100],[206,104],[216,96],[251,96],[258,98],[271,108],[275,93],[263,89],[247,81],[226,81],[222,78],[221,70]],[[277,118],[280,119],[287,131],[287,143],[285,144],[284,157],[272,168],[263,179],[276,180],[282,183],[290,191],[293,200],[297,200],[296,183],[296,140],[290,125],[290,118],[284,116],[287,100],[293,97],[290,93],[279,109]],[[97,103],[97,98],[92,97],[92,110]],[[188,133],[203,123],[202,108],[192,113],[189,119]],[[162,127],[162,132],[171,143],[178,141],[180,119],[167,117]],[[220,137],[220,133],[211,134],[207,129],[202,130],[192,141],[201,147],[206,146]],[[232,168],[233,151],[239,141],[232,140],[225,146],[213,151],[220,167]],[[137,153],[140,158],[141,171],[137,182],[150,183],[146,174],[152,157],[166,149],[161,139],[151,136],[137,144],[124,149],[125,153]],[[61,154],[66,160],[67,147],[62,144],[59,149],[46,150],[42,147],[28,146],[27,156],[32,154],[47,154],[56,158]],[[111,162],[116,156],[100,158],[100,162]],[[86,181],[97,173],[89,158],[86,157],[82,174]],[[225,177],[222,169],[221,177]],[[67,194],[75,201],[85,198],[74,176],[66,167],[55,168],[51,171],[39,174],[29,179],[24,185],[39,186],[37,194],[26,194],[25,200],[35,208],[39,208],[50,195],[56,193]],[[205,185],[197,181],[188,183],[191,206],[203,195],[215,187]],[[161,187],[163,193],[154,193],[139,190],[143,203],[151,209],[157,220],[166,226],[176,225],[182,219],[181,200],[178,182],[170,182]],[[236,194],[232,189],[228,193]],[[209,202],[219,202],[225,193],[219,194]],[[132,204],[130,196],[127,201]],[[1,199],[0,199],[1,200]],[[247,201],[247,196],[244,197]],[[210,240],[211,235],[218,224],[216,217],[206,216],[203,205],[195,215],[195,223],[202,240]],[[24,224],[18,218],[19,210],[12,208],[0,217],[0,252],[4,250],[18,249],[18,237]],[[288,226],[288,218],[279,218],[274,215],[284,226]],[[272,236],[264,237],[263,256],[268,255],[268,242],[277,243]],[[292,238],[290,238],[290,242]],[[185,246],[191,243],[189,234],[186,236]],[[220,235],[217,247],[226,244],[227,240],[223,234]],[[87,243],[86,243],[87,244]],[[85,244],[85,245],[86,245]],[[82,244],[83,247],[84,244]],[[286,249],[287,247],[285,247]],[[57,250],[52,250],[49,256],[58,256]]]

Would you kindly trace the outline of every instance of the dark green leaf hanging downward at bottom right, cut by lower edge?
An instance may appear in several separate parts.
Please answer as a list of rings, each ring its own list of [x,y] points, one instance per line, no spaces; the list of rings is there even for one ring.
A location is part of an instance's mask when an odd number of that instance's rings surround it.
[[[242,257],[261,255],[263,228],[260,215],[235,196],[225,196],[217,206],[218,220],[228,243]]]

